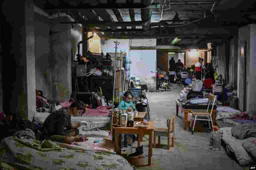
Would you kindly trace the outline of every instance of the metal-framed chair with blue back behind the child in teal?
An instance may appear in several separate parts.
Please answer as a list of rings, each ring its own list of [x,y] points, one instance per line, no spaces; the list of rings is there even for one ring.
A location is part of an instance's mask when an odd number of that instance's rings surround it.
[[[127,91],[130,91],[132,93],[133,98],[138,98],[138,97],[140,98],[139,103],[136,103],[136,104],[140,104],[140,106],[142,108],[147,108],[148,118],[150,119],[150,116],[149,116],[150,109],[149,109],[149,105],[148,105],[148,100],[147,100],[147,103],[142,102],[142,98],[147,99],[146,93],[142,89],[139,89],[139,88],[128,89]]]

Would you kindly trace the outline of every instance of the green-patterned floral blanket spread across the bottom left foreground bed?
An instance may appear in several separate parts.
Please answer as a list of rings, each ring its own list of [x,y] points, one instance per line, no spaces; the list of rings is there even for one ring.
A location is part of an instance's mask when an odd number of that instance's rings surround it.
[[[40,143],[30,139],[30,144],[24,145],[16,137],[2,140],[0,159],[10,166],[24,170],[85,170],[85,169],[116,169],[134,170],[126,159],[120,155],[99,151],[70,150],[66,148],[48,148],[50,151],[40,151],[29,145],[39,147]],[[23,140],[23,139],[20,139]],[[26,142],[25,142],[26,143]],[[47,145],[46,147],[52,147]],[[54,149],[54,150],[52,150]]]

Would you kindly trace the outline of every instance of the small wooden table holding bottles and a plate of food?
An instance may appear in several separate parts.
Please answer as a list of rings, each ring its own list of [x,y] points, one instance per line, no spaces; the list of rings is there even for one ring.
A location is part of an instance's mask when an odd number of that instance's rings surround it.
[[[115,150],[116,154],[121,154],[121,147],[119,147],[120,141],[118,140],[118,136],[120,134],[137,134],[138,136],[138,147],[140,147],[140,138],[141,135],[149,135],[148,140],[148,165],[151,165],[152,159],[152,148],[153,148],[153,129],[155,126],[155,121],[148,122],[147,128],[138,128],[136,123],[140,121],[134,121],[134,127],[113,127],[113,131],[115,132]]]

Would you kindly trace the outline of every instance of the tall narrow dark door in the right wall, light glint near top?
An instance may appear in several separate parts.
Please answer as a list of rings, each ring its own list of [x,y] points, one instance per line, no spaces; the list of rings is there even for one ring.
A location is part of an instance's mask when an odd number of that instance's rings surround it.
[[[240,55],[240,94],[239,94],[239,109],[242,111],[246,111],[246,103],[247,103],[247,83],[246,83],[246,41],[240,42],[239,47],[239,55]]]

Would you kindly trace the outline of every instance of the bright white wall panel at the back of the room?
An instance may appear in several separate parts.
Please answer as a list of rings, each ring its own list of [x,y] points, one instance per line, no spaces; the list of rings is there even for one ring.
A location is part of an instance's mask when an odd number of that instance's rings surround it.
[[[139,76],[141,81],[154,83],[152,76],[155,73],[156,50],[131,50],[130,51],[131,74]]]

